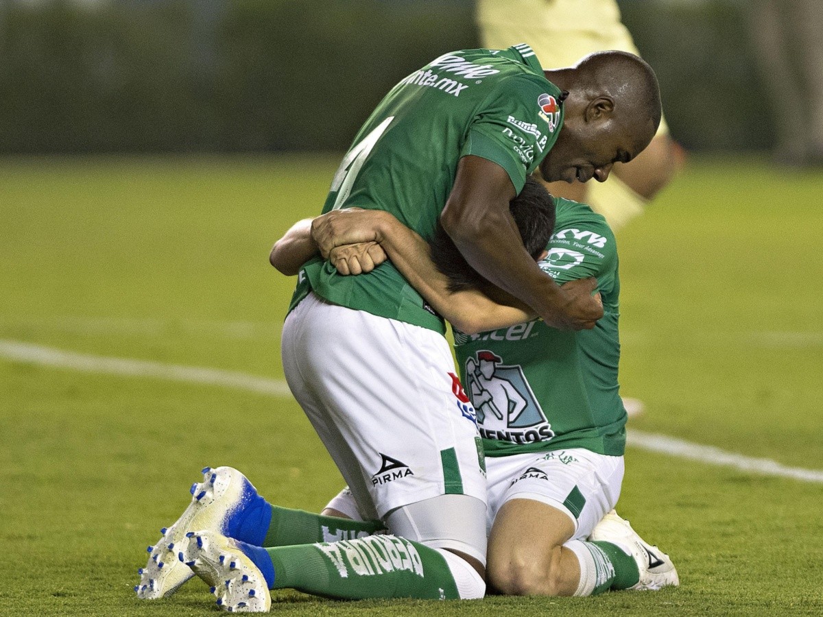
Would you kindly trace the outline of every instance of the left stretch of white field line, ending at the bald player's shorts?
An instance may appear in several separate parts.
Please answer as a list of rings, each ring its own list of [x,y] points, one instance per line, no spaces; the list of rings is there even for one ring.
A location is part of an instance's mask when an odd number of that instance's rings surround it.
[[[221,369],[206,369],[180,364],[161,364],[148,360],[109,358],[100,355],[78,354],[53,347],[44,347],[18,341],[0,340],[0,357],[17,362],[43,364],[58,369],[72,369],[83,373],[107,373],[131,377],[149,377],[175,382],[205,383],[211,386],[235,387],[272,397],[291,397],[285,381],[255,377]]]

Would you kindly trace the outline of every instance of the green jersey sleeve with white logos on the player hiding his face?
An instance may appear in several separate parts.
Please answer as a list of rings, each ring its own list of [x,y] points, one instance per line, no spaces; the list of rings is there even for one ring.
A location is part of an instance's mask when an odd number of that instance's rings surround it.
[[[602,216],[559,224],[546,251],[540,267],[558,285],[588,276],[597,277],[597,289],[602,292],[610,292],[615,285],[615,237]]]

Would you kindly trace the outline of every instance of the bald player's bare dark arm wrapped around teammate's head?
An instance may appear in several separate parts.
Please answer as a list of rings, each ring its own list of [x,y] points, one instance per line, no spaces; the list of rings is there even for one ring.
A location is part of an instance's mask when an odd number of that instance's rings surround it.
[[[464,156],[440,222],[475,270],[528,304],[546,323],[560,329],[594,327],[603,313],[590,293],[560,290],[523,248],[509,214],[513,197],[514,186],[500,165]],[[595,285],[592,281],[588,292]]]

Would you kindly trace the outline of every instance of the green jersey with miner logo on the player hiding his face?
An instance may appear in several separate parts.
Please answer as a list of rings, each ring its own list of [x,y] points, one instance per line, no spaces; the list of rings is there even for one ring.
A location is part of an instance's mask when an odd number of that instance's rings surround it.
[[[621,456],[625,449],[614,234],[588,206],[556,201],[556,233],[540,267],[560,285],[596,276],[604,315],[582,332],[561,332],[541,320],[473,336],[455,332],[461,378],[488,457],[563,448]]]

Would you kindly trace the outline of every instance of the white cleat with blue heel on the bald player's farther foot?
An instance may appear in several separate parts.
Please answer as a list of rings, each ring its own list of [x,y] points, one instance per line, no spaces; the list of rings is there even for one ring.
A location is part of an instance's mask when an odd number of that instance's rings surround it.
[[[189,489],[188,508],[174,525],[161,529],[160,540],[146,549],[149,559],[135,587],[142,600],[171,596],[194,576],[179,560],[188,530],[218,531],[249,544],[261,543],[266,535],[271,509],[246,476],[232,467],[205,467],[202,474],[202,482]]]

